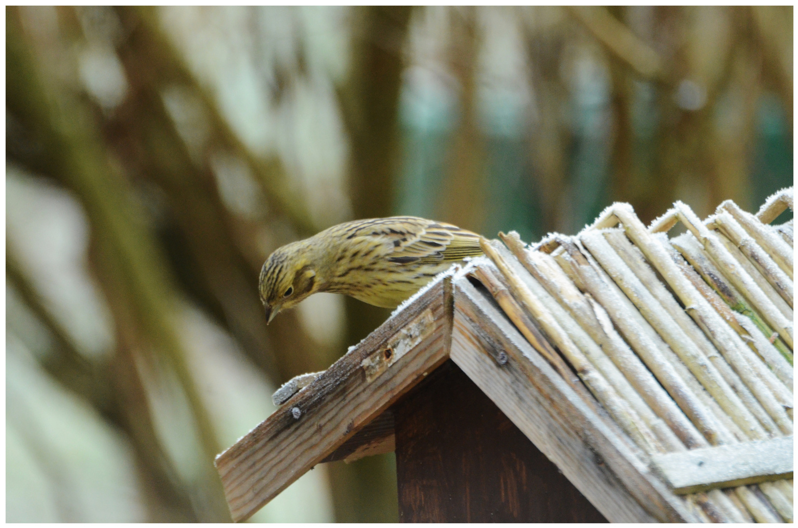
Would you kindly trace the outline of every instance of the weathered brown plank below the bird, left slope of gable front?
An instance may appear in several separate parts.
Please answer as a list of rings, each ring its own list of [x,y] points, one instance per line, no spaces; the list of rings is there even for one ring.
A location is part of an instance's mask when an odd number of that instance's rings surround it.
[[[445,361],[451,319],[444,309],[443,282],[439,279],[217,457],[233,520],[249,518]]]

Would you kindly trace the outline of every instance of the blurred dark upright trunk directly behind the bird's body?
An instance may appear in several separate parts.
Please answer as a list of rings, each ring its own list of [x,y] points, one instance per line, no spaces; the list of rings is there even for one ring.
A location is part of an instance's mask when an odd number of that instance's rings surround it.
[[[355,218],[389,216],[400,160],[398,132],[401,73],[409,6],[354,8],[353,56],[346,85],[338,90],[350,140],[350,193]],[[389,310],[346,297],[346,345],[376,329]],[[338,522],[396,522],[393,455],[330,463]],[[389,500],[389,503],[384,503]]]

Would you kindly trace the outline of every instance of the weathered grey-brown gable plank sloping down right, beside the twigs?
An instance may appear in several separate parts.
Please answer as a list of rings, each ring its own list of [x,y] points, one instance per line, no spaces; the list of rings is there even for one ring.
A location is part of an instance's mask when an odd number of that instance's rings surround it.
[[[452,286],[452,361],[610,522],[698,522],[642,451],[579,398],[486,294],[464,278]],[[504,364],[493,359],[496,348]]]

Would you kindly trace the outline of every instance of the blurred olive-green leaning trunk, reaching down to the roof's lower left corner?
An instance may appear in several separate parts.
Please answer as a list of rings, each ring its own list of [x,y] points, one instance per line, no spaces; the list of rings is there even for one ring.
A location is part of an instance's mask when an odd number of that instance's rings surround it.
[[[18,10],[6,9],[6,71],[9,73],[6,106],[28,125],[38,143],[50,153],[49,161],[53,164],[50,174],[57,175],[72,189],[85,207],[101,256],[97,259],[97,267],[101,274],[113,277],[121,286],[120,290],[105,292],[114,301],[112,310],[120,305],[129,310],[143,349],[148,353],[153,350],[163,357],[188,398],[203,450],[197,461],[200,482],[195,483],[195,488],[204,490],[201,498],[194,497],[198,517],[208,521],[227,519],[229,513],[212,465],[219,445],[173,326],[172,290],[164,274],[164,264],[128,202],[123,181],[109,165],[91,112],[84,101],[70,95],[65,88],[53,85],[53,72],[41,66],[40,57],[27,52],[35,46],[24,40]],[[108,286],[107,283],[104,286]],[[120,314],[114,313],[115,321],[117,315]],[[132,408],[125,410],[130,412]],[[143,436],[152,432],[152,428],[145,429],[143,435],[137,434],[142,432],[138,429],[129,431],[140,446],[148,445]],[[160,450],[144,449],[152,463],[164,463]]]

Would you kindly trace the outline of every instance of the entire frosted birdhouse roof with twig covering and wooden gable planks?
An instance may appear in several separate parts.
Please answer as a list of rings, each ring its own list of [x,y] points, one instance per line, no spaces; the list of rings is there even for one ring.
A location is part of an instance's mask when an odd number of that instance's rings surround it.
[[[234,520],[317,463],[393,451],[385,412],[451,358],[612,522],[792,521],[792,220],[616,203],[439,275],[216,467]],[[667,232],[682,223],[687,231]]]

